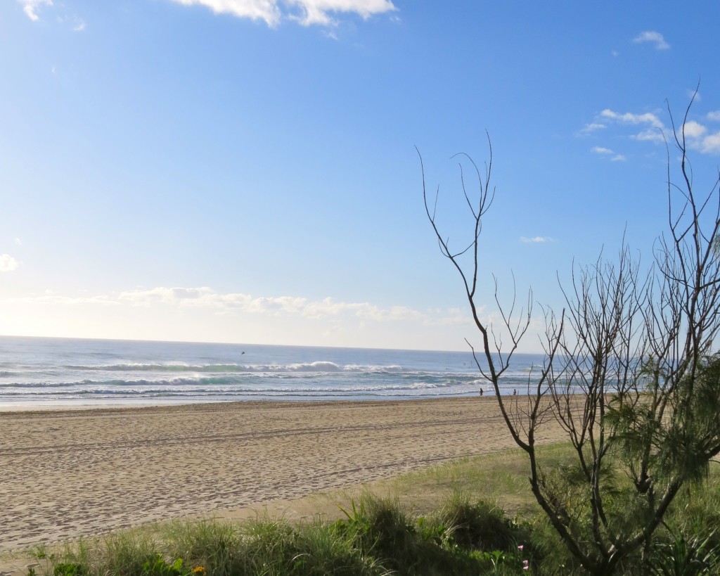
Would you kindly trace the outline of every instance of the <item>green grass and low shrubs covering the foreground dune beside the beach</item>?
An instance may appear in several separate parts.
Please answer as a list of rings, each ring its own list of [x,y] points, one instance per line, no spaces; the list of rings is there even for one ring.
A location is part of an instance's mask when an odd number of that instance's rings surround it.
[[[541,452],[558,468],[572,465],[570,444]],[[27,574],[582,574],[526,490],[526,462],[515,449],[326,495],[335,514],[309,521],[171,521],[37,546]],[[315,502],[323,508],[320,499]],[[657,575],[717,573],[718,510],[720,474],[713,469],[705,485],[680,491],[647,554],[629,554],[616,573],[641,574],[643,566]]]

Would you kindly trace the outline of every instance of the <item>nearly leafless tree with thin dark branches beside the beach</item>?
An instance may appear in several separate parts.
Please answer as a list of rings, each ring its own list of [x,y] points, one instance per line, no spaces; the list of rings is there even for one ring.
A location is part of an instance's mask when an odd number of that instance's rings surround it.
[[[438,193],[429,202],[420,157],[428,220],[462,279],[482,339],[482,350],[472,350],[477,368],[528,455],[537,502],[572,556],[595,575],[616,572],[631,554],[647,557],[680,487],[702,480],[720,453],[720,358],[711,351],[720,330],[720,176],[709,192],[696,194],[684,131],[689,111],[680,127],[670,114],[679,181],[672,181],[668,151],[669,230],[655,244],[652,265],[642,271],[623,241],[614,261],[573,267],[569,288],[561,287],[564,310],[542,310],[544,363],[523,400],[503,398],[500,384],[530,328],[532,294],[518,314],[514,294],[509,307],[500,304],[495,282],[501,325],[496,332],[480,318],[480,233],[495,194],[490,139],[484,173],[465,157],[477,180],[474,195],[461,163],[473,234],[459,249],[438,228]],[[542,465],[536,438],[548,418],[572,444],[570,469]]]

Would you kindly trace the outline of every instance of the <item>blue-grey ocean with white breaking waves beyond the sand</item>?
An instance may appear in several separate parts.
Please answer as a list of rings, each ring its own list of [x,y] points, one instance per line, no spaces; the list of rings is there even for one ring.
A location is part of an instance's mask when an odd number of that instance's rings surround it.
[[[526,390],[518,354],[503,394]],[[0,409],[491,394],[472,353],[0,336]]]

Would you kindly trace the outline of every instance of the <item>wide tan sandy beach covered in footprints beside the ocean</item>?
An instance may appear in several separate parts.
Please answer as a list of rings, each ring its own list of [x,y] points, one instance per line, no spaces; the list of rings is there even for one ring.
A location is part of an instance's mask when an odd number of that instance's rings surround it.
[[[542,441],[559,439],[548,426]],[[0,414],[0,552],[513,446],[492,397]]]

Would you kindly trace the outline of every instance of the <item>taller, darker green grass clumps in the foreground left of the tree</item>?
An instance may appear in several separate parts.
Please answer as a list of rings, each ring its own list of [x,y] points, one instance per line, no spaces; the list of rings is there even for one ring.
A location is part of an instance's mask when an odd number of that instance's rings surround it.
[[[55,576],[384,576],[523,573],[526,531],[501,510],[453,495],[429,516],[369,492],[343,518],[171,522],[37,549],[30,574]]]

